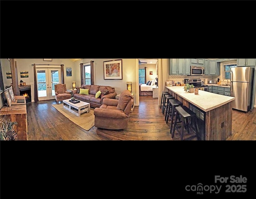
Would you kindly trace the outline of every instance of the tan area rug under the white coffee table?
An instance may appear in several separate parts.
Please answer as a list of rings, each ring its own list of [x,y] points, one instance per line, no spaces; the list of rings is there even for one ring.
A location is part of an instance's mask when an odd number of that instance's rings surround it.
[[[94,114],[93,109],[90,109],[89,113],[82,113],[80,117],[74,115],[70,111],[63,108],[63,104],[52,104],[52,107],[56,108],[60,113],[67,117],[70,121],[74,122],[81,128],[89,131],[94,126]]]

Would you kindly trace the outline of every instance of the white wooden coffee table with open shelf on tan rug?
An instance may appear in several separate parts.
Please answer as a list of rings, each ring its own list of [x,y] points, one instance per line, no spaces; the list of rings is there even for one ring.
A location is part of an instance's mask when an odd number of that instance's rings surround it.
[[[82,113],[89,113],[90,112],[90,103],[80,101],[79,103],[72,103],[69,100],[71,99],[64,99],[63,100],[63,108],[70,111],[74,115],[80,117]],[[77,100],[76,100],[77,101]]]

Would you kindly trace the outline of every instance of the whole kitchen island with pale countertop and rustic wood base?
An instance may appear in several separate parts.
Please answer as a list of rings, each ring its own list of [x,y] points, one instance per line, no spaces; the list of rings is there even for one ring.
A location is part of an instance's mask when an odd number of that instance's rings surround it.
[[[166,86],[168,92],[196,113],[202,140],[226,140],[232,133],[232,101],[223,96],[202,90],[198,95],[184,91],[184,86]]]

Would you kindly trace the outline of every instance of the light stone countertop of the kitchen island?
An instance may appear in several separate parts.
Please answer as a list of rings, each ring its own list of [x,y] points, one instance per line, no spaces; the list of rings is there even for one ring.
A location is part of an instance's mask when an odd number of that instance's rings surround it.
[[[166,86],[166,88],[205,112],[220,107],[235,99],[234,97],[223,96],[202,90],[198,90],[198,95],[195,95],[194,93],[184,91],[184,86]]]

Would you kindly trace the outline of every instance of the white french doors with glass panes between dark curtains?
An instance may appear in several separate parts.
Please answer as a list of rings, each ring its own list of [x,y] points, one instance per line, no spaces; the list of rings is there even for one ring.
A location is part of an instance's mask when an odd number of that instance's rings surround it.
[[[36,68],[38,101],[55,99],[54,85],[60,77],[60,68]]]

